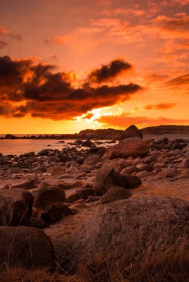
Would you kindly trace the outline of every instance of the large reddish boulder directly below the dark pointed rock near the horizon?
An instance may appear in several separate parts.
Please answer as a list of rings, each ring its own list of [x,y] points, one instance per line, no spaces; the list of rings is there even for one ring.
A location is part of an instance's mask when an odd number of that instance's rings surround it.
[[[109,150],[110,159],[146,157],[149,152],[146,142],[139,137],[123,139]]]

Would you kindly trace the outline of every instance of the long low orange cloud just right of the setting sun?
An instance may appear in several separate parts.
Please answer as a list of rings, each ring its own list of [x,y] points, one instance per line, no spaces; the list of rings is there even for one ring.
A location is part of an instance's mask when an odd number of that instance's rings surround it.
[[[163,116],[158,118],[150,118],[147,116],[130,116],[127,113],[121,114],[121,116],[102,116],[97,119],[99,123],[104,123],[104,126],[116,126],[118,128],[127,128],[130,124],[135,124],[139,128],[150,125],[166,125],[166,124],[188,124],[189,120],[186,119],[174,119],[164,118]]]

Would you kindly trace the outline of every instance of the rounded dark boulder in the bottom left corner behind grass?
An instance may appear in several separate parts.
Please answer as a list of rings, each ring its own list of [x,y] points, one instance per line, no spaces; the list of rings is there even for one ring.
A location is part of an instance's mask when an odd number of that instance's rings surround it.
[[[0,265],[26,269],[54,266],[54,247],[39,228],[1,226],[0,253]]]

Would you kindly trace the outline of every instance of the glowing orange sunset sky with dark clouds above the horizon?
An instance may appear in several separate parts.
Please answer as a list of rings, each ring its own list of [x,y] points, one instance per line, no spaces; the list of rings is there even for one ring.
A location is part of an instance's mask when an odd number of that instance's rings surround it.
[[[189,0],[1,0],[0,134],[189,125]]]

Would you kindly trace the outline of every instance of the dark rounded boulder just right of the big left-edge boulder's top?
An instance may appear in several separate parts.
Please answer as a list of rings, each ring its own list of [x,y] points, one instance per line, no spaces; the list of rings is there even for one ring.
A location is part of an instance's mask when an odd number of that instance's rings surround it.
[[[46,209],[50,204],[65,202],[66,194],[62,188],[50,186],[31,192],[34,197],[34,207]]]

